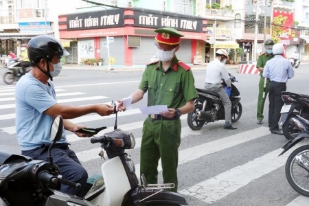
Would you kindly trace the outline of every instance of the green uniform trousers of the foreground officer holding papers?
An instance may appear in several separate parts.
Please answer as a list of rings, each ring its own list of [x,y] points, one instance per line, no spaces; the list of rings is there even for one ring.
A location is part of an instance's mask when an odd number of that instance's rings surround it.
[[[154,120],[148,117],[141,138],[141,169],[149,184],[158,183],[158,163],[161,157],[163,183],[174,183],[177,192],[178,148],[181,143],[181,119]]]

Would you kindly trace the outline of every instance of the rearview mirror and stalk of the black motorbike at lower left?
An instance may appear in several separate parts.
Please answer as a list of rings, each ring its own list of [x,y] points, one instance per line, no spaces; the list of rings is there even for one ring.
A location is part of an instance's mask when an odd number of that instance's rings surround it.
[[[49,163],[54,163],[51,149],[54,146],[54,144],[56,144],[56,141],[59,141],[61,139],[62,130],[63,130],[63,119],[60,115],[57,115],[54,121],[52,122],[52,126],[50,127],[49,141],[52,141],[53,143],[48,148],[47,161]]]

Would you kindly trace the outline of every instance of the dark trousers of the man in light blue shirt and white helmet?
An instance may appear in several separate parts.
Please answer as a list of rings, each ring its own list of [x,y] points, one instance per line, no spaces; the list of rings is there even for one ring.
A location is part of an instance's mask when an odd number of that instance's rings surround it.
[[[271,125],[271,130],[279,130],[278,122],[280,119],[280,111],[284,102],[281,98],[282,91],[286,91],[286,83],[271,81],[269,84],[268,99],[268,122]]]

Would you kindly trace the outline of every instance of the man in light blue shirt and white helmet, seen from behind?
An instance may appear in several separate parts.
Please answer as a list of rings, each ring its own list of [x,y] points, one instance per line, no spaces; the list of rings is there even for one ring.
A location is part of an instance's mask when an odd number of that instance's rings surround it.
[[[271,133],[283,135],[282,130],[279,130],[278,122],[280,119],[280,110],[284,105],[281,98],[282,91],[286,91],[286,82],[293,78],[294,70],[290,65],[290,61],[283,57],[284,45],[277,43],[273,45],[274,58],[268,60],[264,67],[263,76],[271,82],[269,84],[269,111],[268,123],[271,125]]]

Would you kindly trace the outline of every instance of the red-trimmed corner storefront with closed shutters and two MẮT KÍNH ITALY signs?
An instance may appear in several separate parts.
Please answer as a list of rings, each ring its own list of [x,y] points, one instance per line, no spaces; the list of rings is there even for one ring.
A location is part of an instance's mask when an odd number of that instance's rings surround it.
[[[71,53],[67,63],[80,64],[100,57],[104,64],[109,59],[115,65],[130,67],[145,65],[155,56],[156,33],[153,31],[159,27],[174,27],[185,35],[176,56],[185,63],[192,63],[194,56],[202,55],[206,23],[197,16],[115,9],[61,15],[59,32],[63,45]]]

